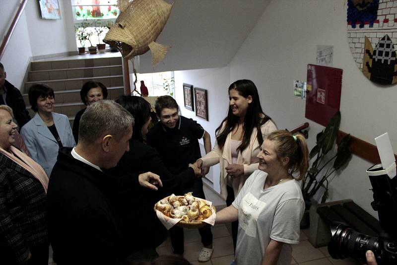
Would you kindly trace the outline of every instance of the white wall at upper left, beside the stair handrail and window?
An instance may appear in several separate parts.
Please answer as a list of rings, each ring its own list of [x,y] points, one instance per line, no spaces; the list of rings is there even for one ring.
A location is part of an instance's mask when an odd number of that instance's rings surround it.
[[[61,19],[45,20],[41,19],[39,2],[27,1],[1,59],[7,80],[16,87],[22,87],[30,57],[76,50],[70,1],[61,0],[59,4]],[[1,1],[1,36],[6,34],[18,6],[19,1]]]

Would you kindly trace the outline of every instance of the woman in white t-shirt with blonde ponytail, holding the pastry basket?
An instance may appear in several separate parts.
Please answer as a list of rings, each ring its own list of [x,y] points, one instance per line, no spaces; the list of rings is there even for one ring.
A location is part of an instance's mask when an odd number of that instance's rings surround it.
[[[215,223],[239,221],[237,265],[290,265],[291,244],[299,242],[305,209],[298,183],[309,165],[305,137],[270,133],[258,158],[259,170],[247,179],[232,205],[216,213]]]

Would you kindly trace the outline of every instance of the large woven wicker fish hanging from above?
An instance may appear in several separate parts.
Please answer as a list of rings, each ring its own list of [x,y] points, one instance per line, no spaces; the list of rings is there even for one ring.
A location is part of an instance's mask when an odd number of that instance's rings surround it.
[[[169,47],[155,43],[171,13],[173,4],[164,0],[134,0],[124,9],[109,29],[104,42],[115,45],[125,59],[152,52],[152,64],[161,62]]]

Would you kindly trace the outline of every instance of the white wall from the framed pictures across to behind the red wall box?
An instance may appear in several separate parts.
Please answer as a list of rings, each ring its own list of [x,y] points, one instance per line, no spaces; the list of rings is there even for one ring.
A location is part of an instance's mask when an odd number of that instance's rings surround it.
[[[230,65],[221,68],[222,74],[219,69],[177,72],[177,82],[208,89],[210,120],[200,123],[211,137],[226,115],[228,85],[247,78],[258,86],[262,107],[279,129],[310,123],[308,143],[312,148],[316,134],[324,127],[304,118],[305,101],[293,97],[292,82],[306,80],[307,64],[316,63],[317,45],[332,45],[333,66],[343,69],[340,130],[372,144],[374,137],[389,132],[397,152],[397,88],[373,84],[356,67],[346,39],[346,8],[346,0],[272,0]],[[177,84],[177,89],[177,101],[183,110],[182,84]],[[194,118],[188,110],[183,114]],[[370,206],[371,185],[365,173],[370,166],[370,162],[353,155],[331,182],[329,200],[353,199],[377,216]]]

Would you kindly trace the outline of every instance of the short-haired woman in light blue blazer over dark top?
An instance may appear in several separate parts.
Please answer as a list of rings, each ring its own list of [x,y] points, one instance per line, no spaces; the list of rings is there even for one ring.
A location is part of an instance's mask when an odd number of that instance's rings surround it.
[[[54,90],[45,84],[29,88],[29,103],[36,115],[21,129],[21,136],[31,157],[50,177],[60,147],[76,145],[66,115],[53,112]]]

